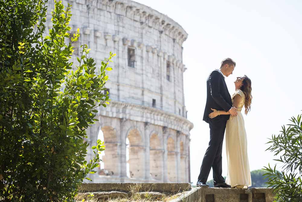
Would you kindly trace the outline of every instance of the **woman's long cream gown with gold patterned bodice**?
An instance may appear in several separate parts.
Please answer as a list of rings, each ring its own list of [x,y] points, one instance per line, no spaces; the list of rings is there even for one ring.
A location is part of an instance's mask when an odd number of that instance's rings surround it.
[[[245,95],[237,90],[232,95],[232,102],[236,94],[241,96],[237,109],[237,116],[230,116],[226,123],[226,158],[228,163],[226,183],[231,187],[246,188],[252,186],[247,155],[247,138],[241,110],[244,105]]]

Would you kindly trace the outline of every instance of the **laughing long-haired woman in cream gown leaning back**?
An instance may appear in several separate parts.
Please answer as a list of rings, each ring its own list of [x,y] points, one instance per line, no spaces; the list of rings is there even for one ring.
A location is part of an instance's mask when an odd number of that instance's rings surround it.
[[[251,109],[252,103],[252,82],[244,75],[237,77],[235,93],[232,95],[233,106],[237,108],[237,116],[231,116],[226,123],[226,157],[228,162],[228,174],[226,183],[231,187],[247,188],[252,186],[251,173],[249,170],[249,159],[247,155],[247,138],[241,110],[245,107],[245,114]],[[223,114],[230,114],[225,111],[217,111],[209,114],[210,118]]]

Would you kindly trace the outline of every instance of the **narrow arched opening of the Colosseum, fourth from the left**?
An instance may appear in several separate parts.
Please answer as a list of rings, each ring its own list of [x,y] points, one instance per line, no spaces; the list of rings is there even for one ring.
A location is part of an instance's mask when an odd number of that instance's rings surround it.
[[[168,169],[168,180],[170,182],[177,181],[176,174],[176,151],[175,151],[175,142],[172,137],[168,138],[167,141],[167,150],[168,150],[168,159],[167,159],[167,169]]]

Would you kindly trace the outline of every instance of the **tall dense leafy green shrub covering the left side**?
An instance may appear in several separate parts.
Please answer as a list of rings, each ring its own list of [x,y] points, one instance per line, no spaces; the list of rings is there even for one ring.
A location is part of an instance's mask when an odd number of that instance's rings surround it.
[[[110,101],[101,92],[114,54],[98,73],[87,45],[77,66],[69,61],[80,36],[69,34],[70,5],[55,1],[46,37],[47,1],[2,0],[0,8],[0,200],[72,201],[104,150],[98,140],[85,161],[86,129]]]

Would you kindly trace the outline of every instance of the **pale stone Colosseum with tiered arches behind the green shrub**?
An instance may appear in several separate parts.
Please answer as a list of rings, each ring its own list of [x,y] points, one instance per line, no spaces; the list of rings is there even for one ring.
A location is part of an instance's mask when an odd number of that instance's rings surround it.
[[[116,53],[88,142],[104,140],[93,182],[190,182],[190,130],[183,91],[182,44],[188,34],[168,16],[130,0],[63,0],[72,5],[74,44],[92,49],[97,66]],[[54,3],[49,1],[49,8]],[[50,9],[48,10],[50,16]],[[47,27],[51,28],[50,21]],[[88,158],[93,155],[88,151]]]

